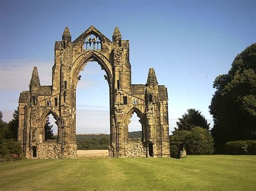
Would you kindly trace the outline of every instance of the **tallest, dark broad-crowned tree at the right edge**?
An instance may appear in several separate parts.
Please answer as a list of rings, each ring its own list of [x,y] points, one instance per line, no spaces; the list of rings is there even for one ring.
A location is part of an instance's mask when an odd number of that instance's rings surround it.
[[[227,74],[217,76],[210,113],[217,153],[232,140],[256,138],[256,44],[238,54]]]

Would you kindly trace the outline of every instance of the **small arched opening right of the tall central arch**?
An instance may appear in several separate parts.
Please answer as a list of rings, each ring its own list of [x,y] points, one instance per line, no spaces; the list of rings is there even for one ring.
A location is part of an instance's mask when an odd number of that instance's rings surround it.
[[[137,116],[136,112],[132,114],[128,126],[128,138],[138,139],[142,138],[142,123],[141,119]]]

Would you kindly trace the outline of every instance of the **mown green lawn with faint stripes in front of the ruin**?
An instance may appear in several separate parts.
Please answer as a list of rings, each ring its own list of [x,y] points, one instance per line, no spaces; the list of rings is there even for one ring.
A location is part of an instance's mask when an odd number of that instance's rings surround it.
[[[0,163],[0,190],[255,190],[256,155]]]

